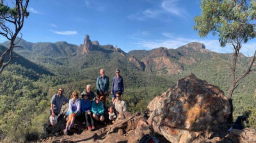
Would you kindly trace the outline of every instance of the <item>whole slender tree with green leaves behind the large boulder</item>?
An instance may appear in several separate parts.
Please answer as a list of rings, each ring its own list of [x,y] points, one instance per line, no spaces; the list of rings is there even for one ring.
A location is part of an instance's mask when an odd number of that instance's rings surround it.
[[[253,69],[256,60],[256,50],[247,65],[246,70],[239,76],[236,75],[236,63],[242,44],[256,36],[256,0],[202,0],[202,15],[195,17],[194,29],[200,37],[209,33],[218,34],[221,47],[230,44],[234,49],[232,56],[231,81],[228,91],[228,100],[231,105],[229,122],[232,122],[232,94],[238,86],[238,81],[245,78]]]

